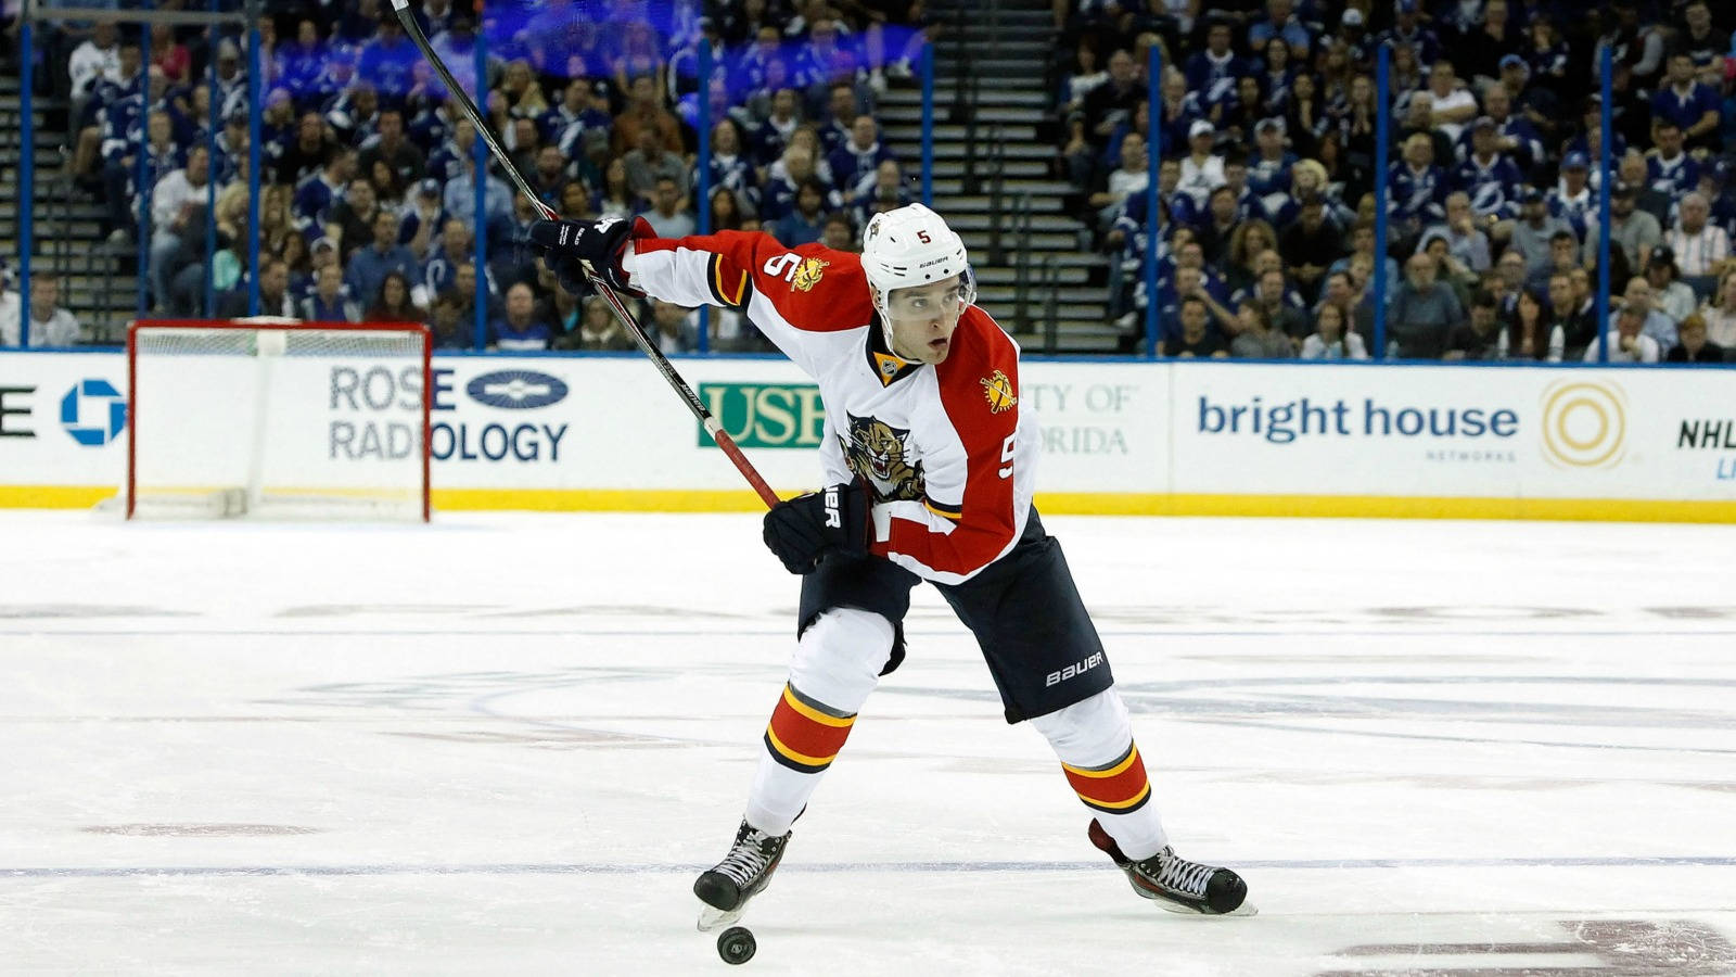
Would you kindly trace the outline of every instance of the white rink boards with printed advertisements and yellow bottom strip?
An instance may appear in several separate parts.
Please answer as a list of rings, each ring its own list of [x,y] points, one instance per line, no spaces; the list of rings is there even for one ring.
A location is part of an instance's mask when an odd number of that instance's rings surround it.
[[[273,389],[299,464],[337,483],[403,464],[418,377],[302,367]],[[677,369],[767,482],[812,487],[823,410],[795,365]],[[120,353],[0,353],[0,504],[113,495],[125,379]],[[1736,522],[1729,370],[1029,360],[1016,381],[1054,513]],[[222,412],[238,393],[172,396]],[[431,445],[436,509],[759,506],[639,355],[436,356]]]

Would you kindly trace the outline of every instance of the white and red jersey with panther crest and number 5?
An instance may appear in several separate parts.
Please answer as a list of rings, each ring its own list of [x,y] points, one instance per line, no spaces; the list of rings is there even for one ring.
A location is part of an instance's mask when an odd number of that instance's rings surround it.
[[[621,261],[628,283],[681,306],[740,309],[819,384],[825,483],[875,490],[870,551],[941,584],[1007,555],[1031,509],[1038,433],[1019,410],[1019,344],[969,306],[936,367],[885,349],[854,254],[722,231],[656,238]]]

